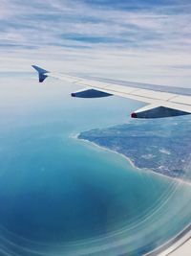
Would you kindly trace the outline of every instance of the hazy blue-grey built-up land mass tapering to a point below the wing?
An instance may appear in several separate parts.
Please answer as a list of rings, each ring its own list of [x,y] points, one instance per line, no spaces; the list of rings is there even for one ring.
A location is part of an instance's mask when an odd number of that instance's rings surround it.
[[[131,121],[81,132],[78,139],[130,158],[139,169],[191,181],[191,120],[188,117]]]

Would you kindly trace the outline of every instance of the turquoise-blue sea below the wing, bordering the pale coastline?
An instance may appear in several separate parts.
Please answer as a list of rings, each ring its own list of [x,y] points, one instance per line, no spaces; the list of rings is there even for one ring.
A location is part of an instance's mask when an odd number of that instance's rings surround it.
[[[1,84],[1,255],[141,255],[189,224],[189,185],[74,138],[129,122],[137,103],[72,99],[58,81]]]

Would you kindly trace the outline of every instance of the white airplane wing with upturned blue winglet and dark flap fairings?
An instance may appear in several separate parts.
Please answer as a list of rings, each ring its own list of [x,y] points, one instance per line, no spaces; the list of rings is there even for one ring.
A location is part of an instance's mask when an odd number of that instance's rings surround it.
[[[123,98],[136,100],[147,105],[131,114],[132,118],[161,118],[191,114],[191,94],[185,95],[179,88],[174,92],[166,91],[165,86],[127,82],[125,85],[56,74],[36,65],[32,67],[38,72],[40,82],[47,77],[67,81],[83,86],[79,91],[73,92],[72,97],[99,98],[116,95]],[[144,85],[144,86],[143,86]],[[152,87],[152,88],[151,88]]]

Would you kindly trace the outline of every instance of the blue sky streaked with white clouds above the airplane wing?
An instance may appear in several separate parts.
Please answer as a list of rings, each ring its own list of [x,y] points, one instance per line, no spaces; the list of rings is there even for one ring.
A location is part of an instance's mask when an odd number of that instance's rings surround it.
[[[190,86],[190,0],[0,0],[0,74],[59,72]]]

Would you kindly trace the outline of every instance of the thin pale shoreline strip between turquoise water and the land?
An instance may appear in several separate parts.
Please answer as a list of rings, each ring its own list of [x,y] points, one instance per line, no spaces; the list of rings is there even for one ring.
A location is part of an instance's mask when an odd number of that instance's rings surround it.
[[[101,150],[101,151],[110,151],[112,153],[116,153],[118,155],[120,155],[120,157],[123,157],[125,160],[127,160],[127,162],[131,165],[131,167],[137,169],[139,172],[143,171],[143,172],[150,172],[152,173],[153,175],[158,175],[160,177],[164,177],[164,178],[167,178],[167,179],[170,179],[171,181],[174,181],[174,182],[177,182],[179,185],[180,184],[184,184],[184,185],[188,185],[188,186],[191,186],[191,181],[186,181],[186,180],[183,180],[183,179],[180,179],[178,177],[173,177],[173,176],[169,176],[169,175],[163,175],[163,174],[160,174],[158,172],[155,172],[153,170],[150,170],[150,169],[146,169],[146,168],[138,168],[135,163],[132,161],[132,159],[128,156],[126,156],[125,154],[123,153],[120,153],[120,152],[117,152],[117,151],[113,151],[113,150],[110,150],[109,148],[106,148],[106,147],[103,147],[103,146],[100,146],[98,144],[96,144],[95,142],[92,142],[90,140],[87,140],[87,139],[80,139],[78,138],[78,136],[80,135],[80,133],[75,133],[75,134],[71,134],[71,138],[73,139],[76,139],[78,141],[82,141],[82,142],[85,142],[89,145],[92,145],[94,147],[96,147],[97,149]]]

